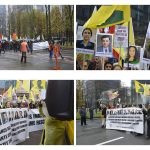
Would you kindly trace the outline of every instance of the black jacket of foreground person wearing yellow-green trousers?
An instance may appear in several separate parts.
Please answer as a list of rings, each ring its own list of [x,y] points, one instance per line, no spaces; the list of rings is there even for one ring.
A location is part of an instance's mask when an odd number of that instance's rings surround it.
[[[74,119],[74,81],[49,80],[45,102],[50,116],[60,120]]]

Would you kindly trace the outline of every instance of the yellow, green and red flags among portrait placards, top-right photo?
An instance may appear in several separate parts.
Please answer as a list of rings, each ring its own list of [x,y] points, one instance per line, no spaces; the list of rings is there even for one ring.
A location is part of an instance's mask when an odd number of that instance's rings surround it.
[[[131,18],[131,8],[129,5],[107,5],[94,9],[92,16],[84,24],[85,28],[102,29],[109,27],[109,33],[114,34],[115,25],[122,24],[129,28],[129,45],[135,45],[134,31]],[[112,29],[113,28],[113,29]],[[122,66],[122,59],[125,59],[124,48],[113,47],[113,55],[119,60]]]

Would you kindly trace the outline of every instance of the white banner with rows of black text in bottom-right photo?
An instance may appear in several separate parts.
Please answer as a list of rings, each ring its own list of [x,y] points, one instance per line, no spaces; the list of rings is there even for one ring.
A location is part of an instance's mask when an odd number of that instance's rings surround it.
[[[143,113],[140,108],[107,109],[106,129],[132,131],[143,134]]]

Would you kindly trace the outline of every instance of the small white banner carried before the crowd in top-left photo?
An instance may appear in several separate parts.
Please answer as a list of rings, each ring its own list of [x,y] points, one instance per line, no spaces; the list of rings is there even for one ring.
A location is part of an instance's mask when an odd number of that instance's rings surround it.
[[[48,41],[33,43],[33,50],[44,50],[49,48]]]

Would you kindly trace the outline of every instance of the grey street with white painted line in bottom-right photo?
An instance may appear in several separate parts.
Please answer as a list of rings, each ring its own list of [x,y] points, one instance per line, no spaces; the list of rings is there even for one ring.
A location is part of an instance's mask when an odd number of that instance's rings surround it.
[[[81,126],[77,120],[76,130],[77,145],[150,145],[143,135],[101,128],[100,119],[87,120],[87,126]]]

